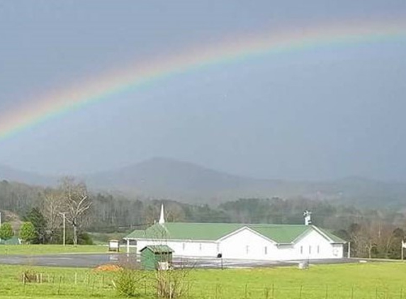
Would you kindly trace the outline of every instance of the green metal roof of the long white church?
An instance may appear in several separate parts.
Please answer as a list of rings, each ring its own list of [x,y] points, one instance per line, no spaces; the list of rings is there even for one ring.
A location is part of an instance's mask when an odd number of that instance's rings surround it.
[[[268,225],[268,224],[243,224],[243,223],[196,223],[196,222],[167,222],[163,225],[154,224],[146,230],[135,230],[125,238],[128,239],[189,239],[215,241],[229,235],[242,227],[249,227],[260,235],[274,240],[276,243],[292,243],[301,235],[310,230],[307,225]],[[344,242],[322,231],[333,242]]]

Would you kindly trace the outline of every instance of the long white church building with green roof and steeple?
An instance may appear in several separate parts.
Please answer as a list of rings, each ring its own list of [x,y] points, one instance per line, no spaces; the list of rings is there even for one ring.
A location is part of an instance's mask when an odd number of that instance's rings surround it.
[[[148,245],[165,244],[174,256],[224,259],[293,261],[303,259],[340,259],[343,239],[310,224],[269,225],[242,223],[165,222],[161,208],[159,222],[146,230],[135,230],[124,238],[127,250],[136,244],[137,252]]]

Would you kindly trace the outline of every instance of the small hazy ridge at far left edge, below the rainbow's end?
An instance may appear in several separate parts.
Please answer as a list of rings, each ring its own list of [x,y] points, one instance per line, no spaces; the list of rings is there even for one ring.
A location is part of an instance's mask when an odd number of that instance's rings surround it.
[[[57,182],[57,179],[51,176],[42,176],[34,172],[17,170],[0,165],[0,181],[3,180],[43,186],[52,186]]]

